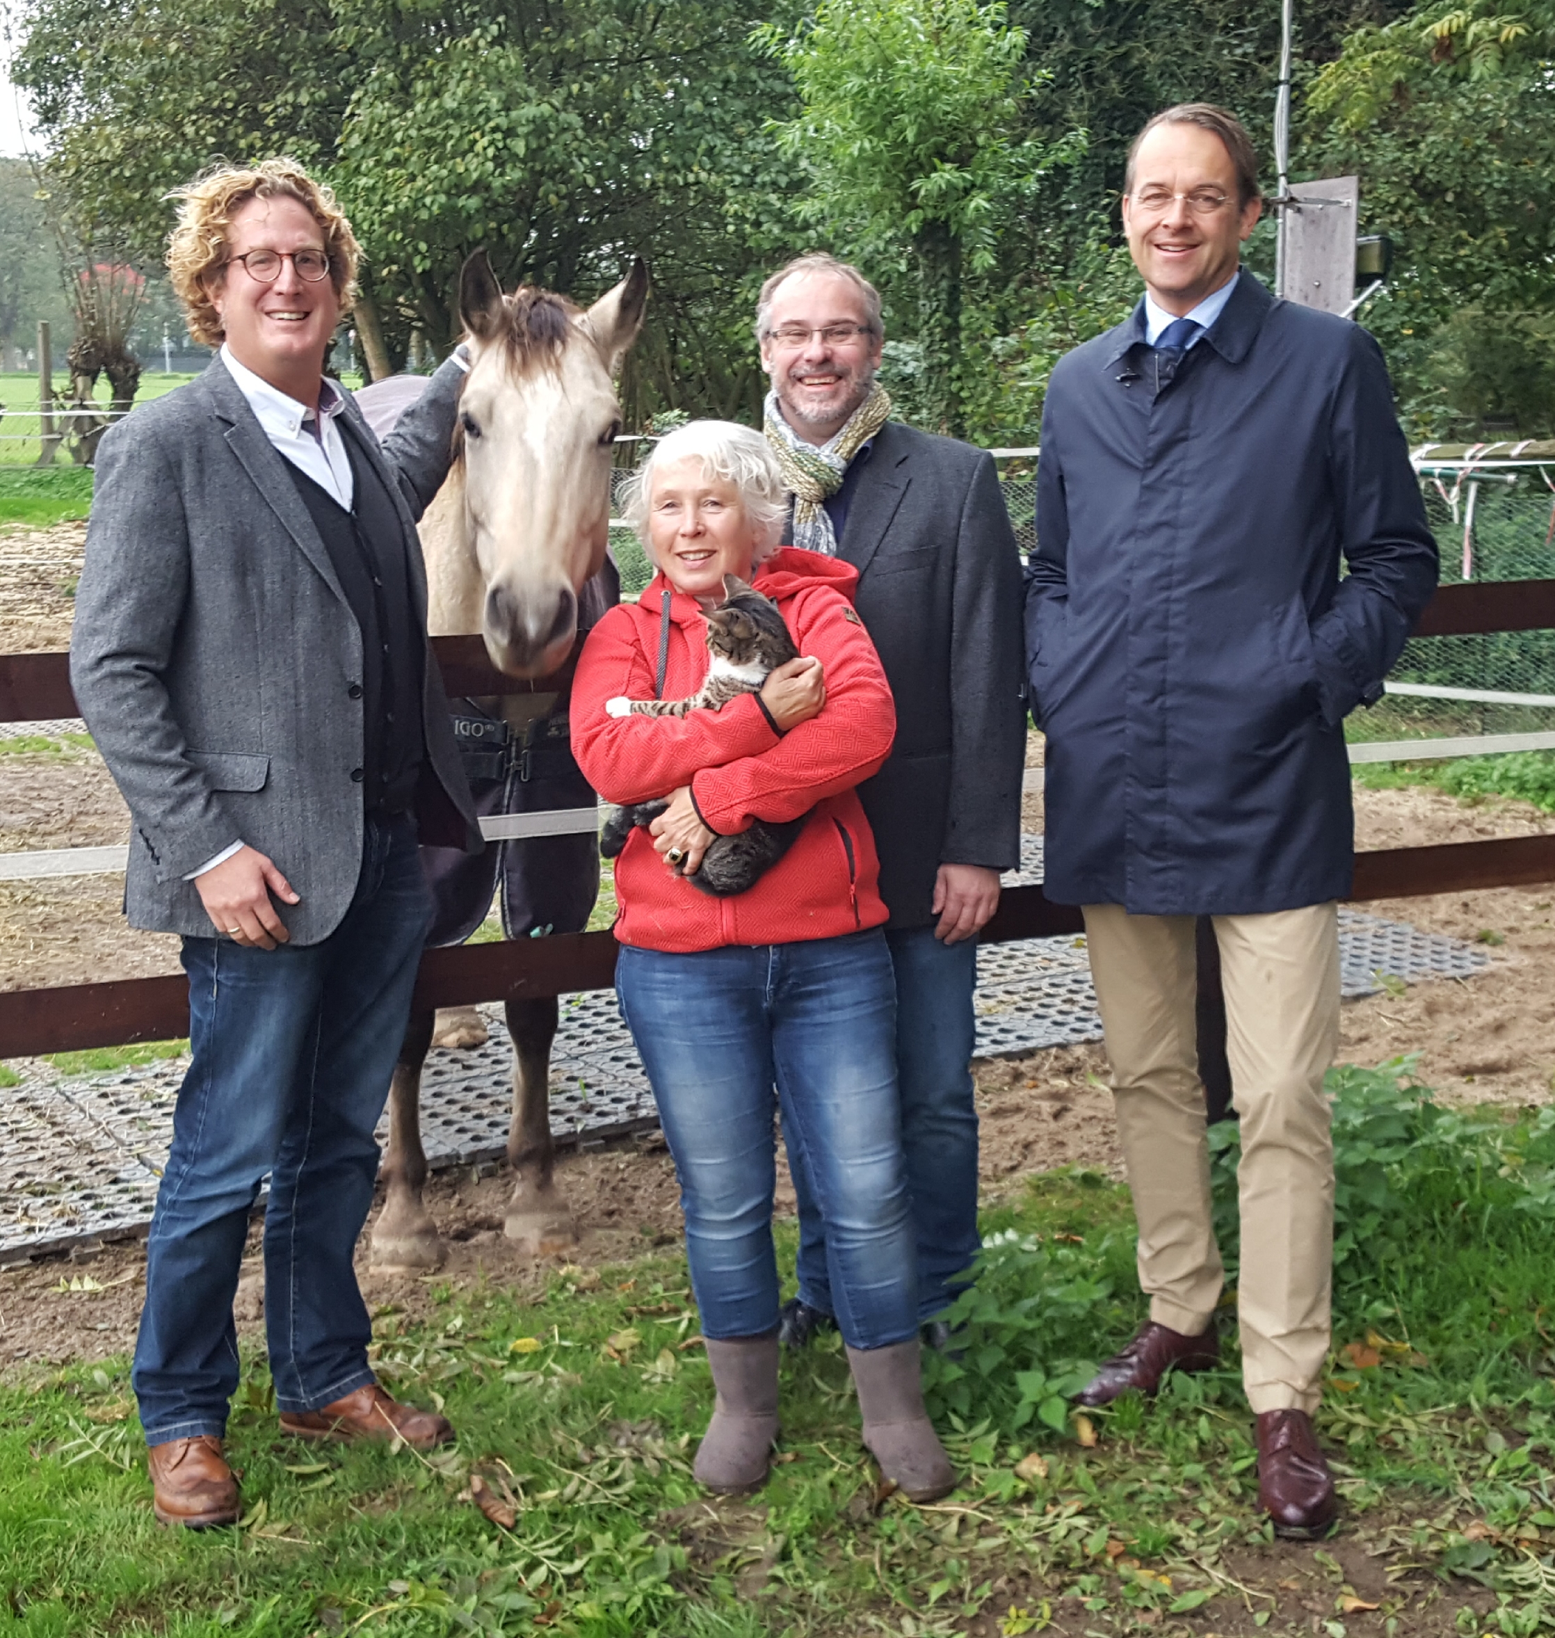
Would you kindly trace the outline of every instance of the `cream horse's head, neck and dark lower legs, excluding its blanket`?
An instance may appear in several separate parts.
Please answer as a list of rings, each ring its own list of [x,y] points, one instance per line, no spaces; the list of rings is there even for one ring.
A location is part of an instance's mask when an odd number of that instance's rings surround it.
[[[577,637],[578,595],[605,563],[611,450],[621,431],[613,377],[646,298],[641,260],[588,311],[531,285],[505,296],[485,252],[460,274],[459,313],[472,357],[454,467],[421,521],[428,624],[434,636],[480,632],[492,663],[510,676],[547,676],[562,665]],[[554,703],[554,695],[510,695],[482,706],[521,729]],[[552,1179],[547,1101],[557,1002],[510,1001],[506,1016],[515,1171],[506,1233],[542,1255],[577,1237]],[[439,1040],[451,1045],[485,1035],[474,1009],[436,1022]],[[390,1089],[387,1197],[372,1233],[379,1268],[437,1268],[446,1255],[421,1201],[421,1066],[433,1030],[431,1012],[411,1017]]]

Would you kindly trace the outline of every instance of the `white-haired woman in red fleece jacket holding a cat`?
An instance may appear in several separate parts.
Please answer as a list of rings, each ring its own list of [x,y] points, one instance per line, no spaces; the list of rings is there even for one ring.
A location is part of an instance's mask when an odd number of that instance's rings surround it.
[[[895,984],[875,842],[854,786],[896,731],[852,608],[857,570],[777,549],[787,496],[767,441],[693,421],[644,464],[628,516],[657,567],[595,626],[572,688],[578,765],[608,801],[669,809],[616,860],[616,989],[680,1176],[687,1256],[716,1402],[696,1477],[739,1494],[778,1433],[773,1101],[790,1165],[826,1217],[837,1324],[882,1473],[914,1500],[955,1482],[918,1379],[918,1271],[896,1097]],[[613,716],[687,699],[708,675],[703,611],[724,575],[782,611],[803,658],[719,711]],[[746,893],[695,886],[706,847],[803,819]]]

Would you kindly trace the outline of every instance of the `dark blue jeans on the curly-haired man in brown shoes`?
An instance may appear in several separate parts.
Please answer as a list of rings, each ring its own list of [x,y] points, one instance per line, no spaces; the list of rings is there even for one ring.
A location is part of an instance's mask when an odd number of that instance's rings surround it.
[[[233,1296],[265,1173],[275,1402],[318,1410],[374,1381],[352,1253],[431,899],[410,817],[369,819],[344,921],[306,948],[185,939],[193,1063],[146,1245],[134,1392],[147,1445],[226,1430]]]

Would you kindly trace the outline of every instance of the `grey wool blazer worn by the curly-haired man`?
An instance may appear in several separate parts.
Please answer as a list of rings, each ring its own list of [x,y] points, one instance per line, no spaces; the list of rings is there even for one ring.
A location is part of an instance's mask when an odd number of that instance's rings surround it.
[[[342,416],[397,500],[423,631],[415,521],[447,473],[460,380],[444,364],[383,447],[349,393]],[[70,681],[129,804],[131,925],[210,937],[184,876],[239,839],[301,894],[280,907],[293,943],[339,925],[362,862],[360,675],[362,634],[324,542],[220,357],[103,436]],[[421,835],[475,850],[429,649],[424,678]]]

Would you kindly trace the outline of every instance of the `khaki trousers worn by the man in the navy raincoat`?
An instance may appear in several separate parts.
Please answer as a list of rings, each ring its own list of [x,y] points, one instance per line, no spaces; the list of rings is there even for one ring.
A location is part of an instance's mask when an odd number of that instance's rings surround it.
[[[1139,1283],[1152,1320],[1198,1335],[1224,1268],[1209,1212],[1195,919],[1086,904],[1085,932],[1139,1219]],[[1216,916],[1214,932],[1242,1125],[1242,1376],[1255,1412],[1311,1412],[1334,1266],[1322,1076],[1339,1047],[1339,909]]]

